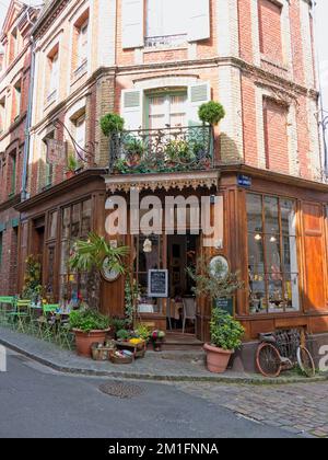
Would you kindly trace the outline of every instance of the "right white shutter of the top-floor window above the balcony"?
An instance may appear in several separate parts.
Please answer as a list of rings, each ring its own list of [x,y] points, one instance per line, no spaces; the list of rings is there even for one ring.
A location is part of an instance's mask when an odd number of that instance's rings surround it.
[[[188,3],[188,42],[210,38],[210,0],[190,0]]]

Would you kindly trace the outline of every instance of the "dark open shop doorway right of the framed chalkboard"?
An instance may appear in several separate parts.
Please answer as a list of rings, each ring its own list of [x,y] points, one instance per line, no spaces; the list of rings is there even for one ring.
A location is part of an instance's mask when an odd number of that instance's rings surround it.
[[[198,238],[190,233],[167,237],[167,331],[177,334],[196,334],[195,283],[186,269],[196,266]]]

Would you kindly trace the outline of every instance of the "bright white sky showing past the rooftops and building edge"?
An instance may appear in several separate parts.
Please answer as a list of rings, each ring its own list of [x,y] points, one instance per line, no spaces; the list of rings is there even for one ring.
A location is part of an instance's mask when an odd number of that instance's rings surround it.
[[[178,0],[177,0],[178,1]],[[39,4],[43,0],[25,0],[25,3]],[[2,24],[10,0],[0,0],[0,23]],[[318,67],[323,90],[323,105],[328,114],[328,0],[316,0],[316,44]]]

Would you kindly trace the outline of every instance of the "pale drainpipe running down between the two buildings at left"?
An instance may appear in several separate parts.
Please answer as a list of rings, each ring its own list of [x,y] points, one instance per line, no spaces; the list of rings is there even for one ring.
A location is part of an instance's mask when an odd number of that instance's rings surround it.
[[[27,12],[27,20],[33,24]],[[27,114],[25,124],[25,141],[24,141],[24,156],[23,156],[23,174],[22,174],[22,193],[21,199],[25,202],[28,198],[27,194],[27,171],[30,160],[30,145],[31,145],[31,125],[32,125],[32,111],[33,111],[33,93],[34,93],[34,74],[35,74],[35,41],[31,36],[31,72],[30,72],[30,88],[28,88],[28,102]]]

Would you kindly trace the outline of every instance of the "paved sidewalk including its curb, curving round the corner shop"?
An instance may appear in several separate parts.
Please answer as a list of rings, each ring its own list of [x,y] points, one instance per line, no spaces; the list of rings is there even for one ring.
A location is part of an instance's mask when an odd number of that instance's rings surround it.
[[[148,352],[145,358],[131,365],[114,365],[109,361],[94,361],[77,356],[74,352],[61,349],[51,343],[0,327],[0,344],[22,353],[55,370],[70,373],[105,376],[162,381],[214,381],[237,383],[293,383],[309,382],[297,375],[282,375],[279,379],[265,379],[260,375],[227,370],[213,375],[204,367],[202,352]],[[311,381],[327,380],[316,377]]]

